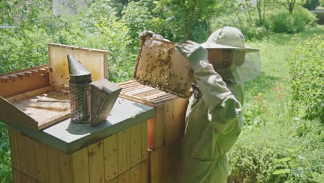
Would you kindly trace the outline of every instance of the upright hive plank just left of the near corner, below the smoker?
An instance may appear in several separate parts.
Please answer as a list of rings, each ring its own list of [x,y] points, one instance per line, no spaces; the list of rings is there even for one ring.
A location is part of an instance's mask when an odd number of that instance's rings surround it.
[[[72,156],[60,151],[61,182],[74,182]]]

